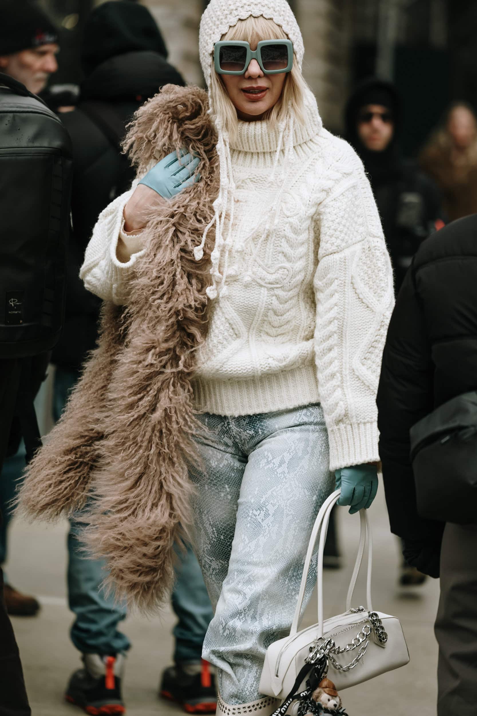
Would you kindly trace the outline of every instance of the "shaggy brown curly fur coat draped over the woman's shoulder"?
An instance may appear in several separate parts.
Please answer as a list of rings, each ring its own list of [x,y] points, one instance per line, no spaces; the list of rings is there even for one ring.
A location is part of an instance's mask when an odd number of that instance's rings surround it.
[[[44,518],[92,495],[85,542],[106,559],[107,586],[144,611],[167,597],[190,524],[190,378],[207,333],[212,235],[201,261],[192,252],[218,193],[216,142],[201,89],[167,85],[137,111],[125,148],[138,173],[186,147],[201,180],[149,218],[129,302],[105,306],[99,346],[19,493],[20,508]]]

